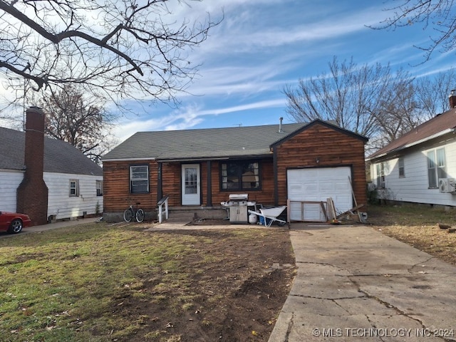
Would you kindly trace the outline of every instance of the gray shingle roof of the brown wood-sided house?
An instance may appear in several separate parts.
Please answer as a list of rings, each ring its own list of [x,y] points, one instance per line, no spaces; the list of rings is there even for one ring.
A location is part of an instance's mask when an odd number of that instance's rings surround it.
[[[115,147],[103,160],[192,160],[269,155],[269,146],[306,123],[199,130],[138,132]]]

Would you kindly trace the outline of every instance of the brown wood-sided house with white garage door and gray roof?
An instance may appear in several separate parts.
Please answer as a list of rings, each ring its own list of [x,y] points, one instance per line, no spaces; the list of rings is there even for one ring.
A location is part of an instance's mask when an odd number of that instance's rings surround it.
[[[165,196],[171,209],[226,217],[220,203],[247,194],[264,206],[291,199],[291,219],[322,220],[320,201],[328,197],[338,210],[353,207],[351,181],[356,201],[366,204],[366,141],[321,120],[138,132],[102,158],[103,219],[121,219],[128,202],[140,202],[153,219]]]

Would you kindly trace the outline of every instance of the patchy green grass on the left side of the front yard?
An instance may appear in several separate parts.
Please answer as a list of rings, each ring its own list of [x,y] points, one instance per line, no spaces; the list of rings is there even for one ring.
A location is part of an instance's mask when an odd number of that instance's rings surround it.
[[[0,239],[1,341],[112,341],[135,333],[145,317],[113,307],[144,296],[144,279],[177,295],[190,310],[187,269],[196,237],[89,224]]]

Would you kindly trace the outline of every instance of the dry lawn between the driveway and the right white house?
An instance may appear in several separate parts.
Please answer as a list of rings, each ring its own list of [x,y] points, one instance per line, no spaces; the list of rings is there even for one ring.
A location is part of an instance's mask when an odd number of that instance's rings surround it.
[[[368,215],[368,222],[383,234],[456,265],[456,233],[438,227],[439,223],[455,224],[456,209],[370,205]]]

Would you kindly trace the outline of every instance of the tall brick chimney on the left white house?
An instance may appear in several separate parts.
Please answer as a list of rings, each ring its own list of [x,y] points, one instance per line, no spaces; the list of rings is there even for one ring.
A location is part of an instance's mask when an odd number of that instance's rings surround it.
[[[17,189],[17,211],[30,216],[33,224],[48,222],[48,187],[43,180],[44,113],[41,108],[26,110],[24,179]]]

